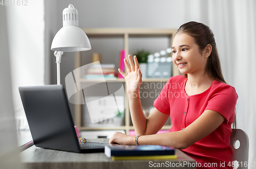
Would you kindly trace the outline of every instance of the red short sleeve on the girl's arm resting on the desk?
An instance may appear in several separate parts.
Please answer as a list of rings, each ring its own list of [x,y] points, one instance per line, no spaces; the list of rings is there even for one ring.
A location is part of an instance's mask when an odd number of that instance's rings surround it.
[[[236,90],[227,84],[223,84],[215,89],[205,110],[214,110],[226,118],[226,123],[229,122],[230,117],[234,114],[238,100]]]

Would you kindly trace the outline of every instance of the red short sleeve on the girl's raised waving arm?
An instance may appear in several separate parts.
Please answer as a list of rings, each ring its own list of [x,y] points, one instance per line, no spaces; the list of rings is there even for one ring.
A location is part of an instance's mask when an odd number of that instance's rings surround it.
[[[168,100],[168,91],[170,86],[171,77],[168,82],[164,85],[157,99],[154,101],[154,107],[164,114],[170,114],[170,104]]]

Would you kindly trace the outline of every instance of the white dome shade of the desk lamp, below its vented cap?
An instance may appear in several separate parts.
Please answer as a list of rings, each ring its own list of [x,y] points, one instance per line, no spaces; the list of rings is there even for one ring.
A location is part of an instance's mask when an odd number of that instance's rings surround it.
[[[91,50],[91,43],[77,26],[62,27],[54,36],[51,50],[61,52],[76,52]]]

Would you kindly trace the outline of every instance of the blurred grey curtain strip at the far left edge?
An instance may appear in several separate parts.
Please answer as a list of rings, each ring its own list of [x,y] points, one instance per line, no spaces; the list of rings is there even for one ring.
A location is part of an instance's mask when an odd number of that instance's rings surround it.
[[[21,168],[12,104],[5,8],[0,10],[0,21],[0,168]]]

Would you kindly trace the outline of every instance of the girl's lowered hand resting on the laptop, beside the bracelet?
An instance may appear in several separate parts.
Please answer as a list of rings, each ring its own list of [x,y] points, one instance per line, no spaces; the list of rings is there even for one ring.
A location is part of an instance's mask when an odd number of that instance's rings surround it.
[[[122,145],[135,145],[135,136],[123,134],[121,132],[115,132],[109,140],[110,144],[122,144]]]

